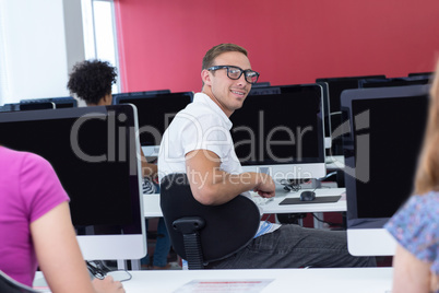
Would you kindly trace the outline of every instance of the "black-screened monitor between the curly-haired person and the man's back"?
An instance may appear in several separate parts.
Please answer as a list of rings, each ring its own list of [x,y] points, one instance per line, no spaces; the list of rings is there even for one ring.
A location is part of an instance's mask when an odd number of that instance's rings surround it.
[[[193,92],[120,95],[116,105],[130,103],[139,114],[140,143],[146,159],[157,157],[163,133],[176,114],[192,102]]]

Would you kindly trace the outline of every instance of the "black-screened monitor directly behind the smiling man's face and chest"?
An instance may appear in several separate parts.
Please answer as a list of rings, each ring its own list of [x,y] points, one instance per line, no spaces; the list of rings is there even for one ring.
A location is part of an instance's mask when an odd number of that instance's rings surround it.
[[[295,89],[295,90],[293,90]],[[248,95],[232,116],[236,154],[245,171],[283,179],[325,176],[323,102],[316,85]]]

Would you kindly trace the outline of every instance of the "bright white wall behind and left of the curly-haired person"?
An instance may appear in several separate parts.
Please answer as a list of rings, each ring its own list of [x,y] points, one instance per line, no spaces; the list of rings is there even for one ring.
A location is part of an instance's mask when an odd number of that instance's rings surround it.
[[[81,7],[80,0],[68,1]],[[63,0],[0,0],[0,105],[69,95],[69,67],[83,59],[82,20],[80,13],[72,22],[69,12],[66,26],[64,19]]]

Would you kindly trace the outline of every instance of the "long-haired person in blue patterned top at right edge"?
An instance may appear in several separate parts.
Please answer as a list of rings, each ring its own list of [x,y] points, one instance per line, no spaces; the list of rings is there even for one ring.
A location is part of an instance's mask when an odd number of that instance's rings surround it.
[[[393,293],[439,292],[439,61],[414,195],[385,224],[398,242]]]

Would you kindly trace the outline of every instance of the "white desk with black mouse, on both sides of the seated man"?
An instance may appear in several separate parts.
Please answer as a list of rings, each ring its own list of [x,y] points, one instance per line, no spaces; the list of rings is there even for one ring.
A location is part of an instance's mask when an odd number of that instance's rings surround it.
[[[330,203],[304,203],[304,204],[284,204],[278,203],[285,198],[299,197],[298,192],[277,191],[274,200],[262,204],[261,208],[265,214],[270,213],[307,213],[307,212],[344,212],[346,211],[345,188],[320,188],[316,189],[317,197],[340,196],[342,198],[337,202]],[[143,214],[145,218],[163,216],[159,206],[159,195],[143,195]]]

